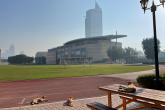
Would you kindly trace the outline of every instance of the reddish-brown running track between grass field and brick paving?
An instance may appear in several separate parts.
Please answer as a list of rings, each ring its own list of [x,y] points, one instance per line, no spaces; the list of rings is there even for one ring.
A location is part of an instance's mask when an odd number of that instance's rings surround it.
[[[48,102],[74,98],[102,96],[99,86],[126,84],[128,80],[114,77],[75,77],[0,82],[0,108],[29,105],[37,96],[46,96]]]

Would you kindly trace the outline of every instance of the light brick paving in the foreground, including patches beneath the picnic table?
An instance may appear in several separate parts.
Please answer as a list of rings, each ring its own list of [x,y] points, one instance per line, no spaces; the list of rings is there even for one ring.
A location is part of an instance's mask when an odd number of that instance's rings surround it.
[[[65,103],[65,101],[60,101],[60,102],[46,103],[40,105],[5,108],[0,110],[90,110],[89,108],[87,108],[86,104],[94,101],[107,104],[107,97],[102,96],[102,97],[78,99],[73,102],[73,107],[64,106],[63,104]],[[113,103],[113,107],[121,104],[121,100],[119,99],[118,95],[113,95],[112,102],[115,102]],[[138,106],[138,104],[132,103],[128,105],[128,108],[132,108],[135,106]],[[145,110],[155,110],[155,109],[145,109]]]

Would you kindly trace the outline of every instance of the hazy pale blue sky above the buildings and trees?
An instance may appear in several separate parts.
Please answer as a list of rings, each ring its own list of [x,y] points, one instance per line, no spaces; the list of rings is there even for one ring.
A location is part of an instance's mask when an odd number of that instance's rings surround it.
[[[103,33],[117,30],[128,35],[119,40],[124,47],[142,50],[141,41],[153,37],[153,28],[152,13],[144,14],[139,1],[97,0],[103,12]],[[94,5],[95,0],[0,0],[0,48],[4,51],[14,44],[16,53],[34,56],[83,38],[85,13]],[[165,8],[159,7],[156,17],[158,39],[165,50]]]

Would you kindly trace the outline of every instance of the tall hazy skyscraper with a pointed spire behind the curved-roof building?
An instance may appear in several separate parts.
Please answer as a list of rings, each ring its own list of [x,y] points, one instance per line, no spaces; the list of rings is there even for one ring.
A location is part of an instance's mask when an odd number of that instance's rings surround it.
[[[95,2],[95,8],[86,11],[85,35],[86,37],[102,36],[102,10]]]

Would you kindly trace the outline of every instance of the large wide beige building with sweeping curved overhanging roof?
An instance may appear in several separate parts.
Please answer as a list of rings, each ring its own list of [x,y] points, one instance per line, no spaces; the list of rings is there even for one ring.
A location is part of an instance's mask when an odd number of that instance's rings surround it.
[[[107,50],[110,47],[122,47],[122,43],[111,40],[122,37],[126,35],[106,35],[66,42],[63,46],[48,50],[47,64],[105,63],[109,59]]]

